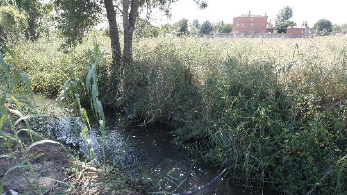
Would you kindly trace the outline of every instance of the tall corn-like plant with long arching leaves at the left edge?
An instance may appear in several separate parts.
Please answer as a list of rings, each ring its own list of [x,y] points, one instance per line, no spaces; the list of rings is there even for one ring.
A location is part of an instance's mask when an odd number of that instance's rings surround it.
[[[7,53],[9,53],[13,59],[15,59],[14,53],[7,48],[6,46],[0,47],[0,49],[5,50]],[[16,61],[16,60],[15,60]],[[35,107],[35,101],[34,101],[34,94],[32,92],[31,82],[26,73],[20,73],[14,69],[13,65],[7,64],[3,58],[2,53],[0,52],[0,65],[1,65],[1,72],[3,75],[1,75],[3,79],[3,86],[1,88],[1,94],[0,94],[0,138],[3,140],[3,142],[6,144],[7,149],[9,151],[9,154],[1,154],[0,158],[11,158],[15,162],[15,165],[9,168],[5,175],[2,177],[1,184],[0,184],[0,194],[3,191],[3,187],[6,182],[6,176],[14,170],[19,170],[21,175],[24,176],[25,180],[27,181],[29,187],[32,189],[33,193],[39,193],[40,195],[43,194],[42,188],[40,186],[40,182],[42,180],[54,180],[52,178],[43,177],[38,178],[35,174],[35,171],[31,164],[31,158],[29,157],[29,154],[31,152],[32,147],[44,144],[44,143],[55,143],[59,144],[58,142],[48,140],[43,138],[41,135],[36,133],[30,125],[29,120],[32,118],[42,118],[42,117],[48,117],[46,115],[41,115],[39,113],[34,112],[28,112],[24,113],[27,107],[29,107],[31,110]],[[17,95],[19,93],[18,88],[24,88],[23,94],[20,96]],[[25,101],[22,101],[21,99],[24,99]],[[8,108],[9,104],[13,104],[15,109]],[[24,104],[24,105],[23,105]],[[21,128],[22,125],[21,122],[24,122],[25,128]],[[11,132],[5,131],[5,125],[9,125],[9,129]],[[19,137],[20,132],[27,132],[30,134],[31,137],[31,145],[25,147],[23,142],[21,141]],[[34,137],[40,137],[41,140],[34,141]],[[14,150],[12,149],[13,143],[17,144],[19,146],[20,152],[23,154],[24,160],[22,162],[19,161],[19,159],[14,155]],[[62,145],[61,145],[62,146]],[[64,146],[63,146],[64,147]],[[31,173],[34,183],[32,184],[26,174],[24,173],[24,170],[29,170]],[[57,180],[55,180],[57,181]],[[71,187],[69,184],[59,181],[60,184],[66,185],[68,187]]]

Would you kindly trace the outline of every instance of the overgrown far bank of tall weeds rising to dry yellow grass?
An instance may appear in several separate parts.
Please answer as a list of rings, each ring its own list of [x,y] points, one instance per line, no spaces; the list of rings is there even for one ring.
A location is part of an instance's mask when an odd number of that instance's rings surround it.
[[[178,142],[211,164],[229,166],[233,178],[285,194],[343,194],[346,39],[142,40],[135,44],[135,65],[121,75],[121,95],[103,93],[106,71],[100,71],[100,93],[144,122],[175,125]],[[62,86],[69,56],[64,59],[52,69],[31,60],[29,75],[56,73],[37,80],[37,91],[54,92],[43,87],[50,82]],[[78,59],[86,73],[87,58]]]

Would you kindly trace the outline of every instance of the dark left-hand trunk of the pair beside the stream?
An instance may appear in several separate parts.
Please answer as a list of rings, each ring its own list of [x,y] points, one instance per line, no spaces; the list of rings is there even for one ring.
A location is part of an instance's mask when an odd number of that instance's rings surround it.
[[[112,72],[119,69],[121,65],[121,50],[119,42],[119,31],[116,20],[116,11],[113,6],[113,0],[104,0],[107,19],[110,29],[111,51],[112,51]]]

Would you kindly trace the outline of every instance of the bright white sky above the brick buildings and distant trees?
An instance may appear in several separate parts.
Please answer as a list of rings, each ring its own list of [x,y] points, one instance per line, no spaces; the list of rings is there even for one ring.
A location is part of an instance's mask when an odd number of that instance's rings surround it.
[[[248,14],[265,15],[274,24],[278,11],[284,6],[293,8],[293,20],[298,25],[307,21],[311,27],[319,19],[328,19],[333,24],[347,24],[347,17],[344,14],[346,0],[205,0],[208,3],[206,9],[197,8],[193,0],[179,0],[172,5],[172,17],[167,18],[162,14],[156,14],[153,24],[161,25],[175,23],[181,18],[186,18],[190,22],[198,19],[200,22],[209,20],[210,22],[223,21],[232,24],[234,16]]]

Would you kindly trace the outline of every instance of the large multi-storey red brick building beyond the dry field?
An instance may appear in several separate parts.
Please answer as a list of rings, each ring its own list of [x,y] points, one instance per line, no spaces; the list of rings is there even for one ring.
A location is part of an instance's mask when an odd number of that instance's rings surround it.
[[[232,24],[232,32],[234,34],[251,34],[251,33],[266,33],[268,26],[268,16],[252,15],[251,11],[248,14],[234,17]]]

